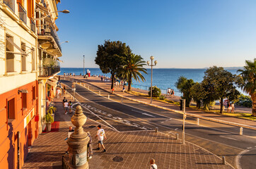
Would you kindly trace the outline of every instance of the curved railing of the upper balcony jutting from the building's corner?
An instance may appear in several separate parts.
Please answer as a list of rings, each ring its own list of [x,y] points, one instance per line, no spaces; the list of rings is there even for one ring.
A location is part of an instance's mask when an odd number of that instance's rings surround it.
[[[37,26],[37,35],[52,36],[57,46],[59,47],[59,50],[62,51],[62,47],[59,44],[59,37],[57,35],[57,32],[51,26],[49,25]]]

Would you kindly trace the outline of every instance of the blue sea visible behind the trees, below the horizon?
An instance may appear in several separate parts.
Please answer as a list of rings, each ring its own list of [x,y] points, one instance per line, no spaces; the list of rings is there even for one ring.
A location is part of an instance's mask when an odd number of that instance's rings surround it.
[[[233,74],[238,74],[237,73],[238,69],[239,67],[225,68],[225,70],[228,70]],[[182,94],[175,87],[175,82],[177,82],[178,78],[180,76],[184,76],[184,77],[187,77],[187,79],[194,80],[194,82],[202,82],[204,78],[205,70],[206,68],[201,68],[201,69],[153,68],[152,85],[160,88],[163,94],[166,94],[167,89],[171,88],[171,89],[174,89],[176,96],[181,96]],[[103,74],[100,68],[85,68],[85,73],[87,71],[90,71],[91,75],[105,75],[107,77],[111,76],[110,73]],[[83,75],[83,68],[61,68],[61,73],[59,74],[63,75],[63,73],[72,73],[72,74],[75,73],[76,75],[80,75],[80,74]],[[145,77],[145,81],[136,82],[135,80],[133,80],[132,87],[149,90],[149,87],[151,86],[151,69],[147,69],[147,74],[145,73],[142,73],[142,74]],[[238,91],[242,92],[240,88],[238,88]]]

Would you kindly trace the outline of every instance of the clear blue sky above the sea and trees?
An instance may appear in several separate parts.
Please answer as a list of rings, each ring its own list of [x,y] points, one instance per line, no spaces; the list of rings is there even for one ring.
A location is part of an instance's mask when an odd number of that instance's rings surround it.
[[[76,2],[76,3],[75,3]],[[62,0],[56,23],[62,67],[98,68],[105,39],[120,40],[156,68],[243,66],[256,56],[256,1]]]

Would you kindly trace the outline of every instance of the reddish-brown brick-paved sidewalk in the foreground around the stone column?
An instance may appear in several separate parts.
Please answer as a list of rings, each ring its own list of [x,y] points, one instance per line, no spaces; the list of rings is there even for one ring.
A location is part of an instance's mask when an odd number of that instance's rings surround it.
[[[64,115],[63,96],[54,99],[57,112],[55,120],[59,121],[58,132],[47,132],[39,135],[30,149],[23,169],[25,168],[62,168],[62,156],[67,149],[64,140],[71,125],[71,115]],[[98,123],[87,119],[83,126],[86,132],[94,136]],[[176,140],[167,134],[151,131],[116,132],[103,125],[107,139],[106,153],[93,151],[89,161],[90,168],[149,168],[149,159],[155,158],[158,168],[232,168],[222,165],[221,158],[209,153],[199,146]],[[97,148],[93,138],[93,149]],[[117,162],[120,161],[120,162]]]

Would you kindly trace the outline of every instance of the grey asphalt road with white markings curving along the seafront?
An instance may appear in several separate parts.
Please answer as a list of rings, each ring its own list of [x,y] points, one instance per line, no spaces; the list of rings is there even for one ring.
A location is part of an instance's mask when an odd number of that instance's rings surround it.
[[[62,80],[62,82],[71,87],[71,82],[65,80]],[[132,119],[129,122],[133,121],[133,124],[135,121],[135,124],[144,126],[144,129],[150,130],[158,127],[161,132],[169,134],[178,132],[180,136],[182,135],[182,115],[127,99],[123,99],[123,104],[121,104],[120,97],[110,95],[110,99],[107,99],[109,93],[92,85],[89,86],[94,92],[100,91],[100,96],[78,84],[76,84],[76,92],[92,101],[91,104],[96,108],[109,108],[105,112],[109,112],[108,115],[112,115],[113,118],[129,118]],[[239,166],[241,168],[255,168],[256,139],[253,137],[256,136],[256,131],[244,129],[244,134],[250,136],[247,137],[245,135],[240,136],[238,133],[239,129],[239,127],[206,120],[200,120],[200,125],[196,125],[196,119],[187,117],[185,139],[188,142],[202,146],[218,156],[226,156],[226,161],[235,168],[239,168]],[[237,154],[240,154],[240,156],[237,156]]]

